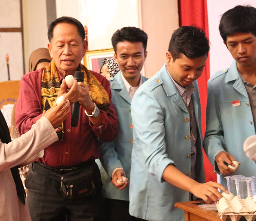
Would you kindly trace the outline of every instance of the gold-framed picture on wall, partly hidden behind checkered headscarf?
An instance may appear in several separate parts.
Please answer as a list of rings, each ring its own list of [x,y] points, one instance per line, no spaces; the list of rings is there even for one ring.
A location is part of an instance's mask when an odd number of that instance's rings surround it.
[[[113,58],[114,53],[115,52],[113,48],[86,51],[86,54],[84,56],[84,65],[87,69],[99,73],[104,58]]]

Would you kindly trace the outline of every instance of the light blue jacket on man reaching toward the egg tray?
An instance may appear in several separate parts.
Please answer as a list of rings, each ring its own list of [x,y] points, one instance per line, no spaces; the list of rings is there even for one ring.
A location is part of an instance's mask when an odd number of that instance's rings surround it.
[[[198,126],[197,181],[203,183],[201,109],[197,81],[192,100]],[[189,192],[162,179],[169,164],[190,176],[189,112],[165,65],[135,93],[131,104],[133,151],[130,175],[132,216],[154,221],[182,221],[184,211],[176,202],[189,201]],[[187,137],[187,139],[186,139]]]

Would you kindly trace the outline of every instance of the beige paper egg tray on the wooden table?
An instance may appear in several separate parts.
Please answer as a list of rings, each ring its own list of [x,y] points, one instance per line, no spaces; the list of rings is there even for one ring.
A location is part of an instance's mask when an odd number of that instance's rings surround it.
[[[241,199],[238,196],[232,200],[222,197],[216,205],[221,220],[239,221],[242,216],[247,221],[256,219],[256,202],[252,196]]]

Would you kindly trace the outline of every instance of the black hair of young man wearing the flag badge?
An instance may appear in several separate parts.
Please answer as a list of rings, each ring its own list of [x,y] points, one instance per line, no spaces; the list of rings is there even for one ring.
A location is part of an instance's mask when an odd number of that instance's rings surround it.
[[[251,5],[237,5],[226,11],[219,23],[219,33],[226,43],[233,33],[252,33],[256,36],[256,9]]]

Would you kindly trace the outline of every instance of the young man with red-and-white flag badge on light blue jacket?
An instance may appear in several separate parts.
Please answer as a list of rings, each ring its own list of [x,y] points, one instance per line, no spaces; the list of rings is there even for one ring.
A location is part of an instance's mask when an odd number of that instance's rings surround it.
[[[203,146],[226,186],[227,174],[256,173],[254,161],[243,151],[244,140],[255,135],[256,128],[256,9],[249,5],[229,9],[222,15],[219,31],[235,60],[208,81]],[[227,167],[232,161],[241,163],[236,172]]]

